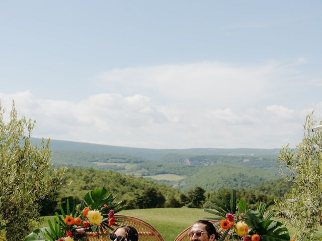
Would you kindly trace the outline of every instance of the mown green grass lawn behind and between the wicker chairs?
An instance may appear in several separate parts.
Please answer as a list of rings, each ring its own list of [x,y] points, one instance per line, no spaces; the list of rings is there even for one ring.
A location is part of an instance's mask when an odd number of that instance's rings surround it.
[[[150,209],[133,209],[123,210],[118,214],[128,215],[140,218],[151,224],[164,237],[165,241],[173,241],[181,231],[186,229],[195,221],[211,216],[199,208],[150,208]],[[53,220],[54,216],[44,217],[41,227],[48,226],[47,220]],[[290,235],[294,231],[290,229]],[[319,227],[317,236],[322,236],[322,228]]]

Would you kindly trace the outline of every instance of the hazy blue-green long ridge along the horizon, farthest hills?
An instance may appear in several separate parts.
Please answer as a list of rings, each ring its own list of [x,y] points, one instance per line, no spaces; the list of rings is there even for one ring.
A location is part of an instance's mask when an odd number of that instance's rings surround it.
[[[41,139],[33,138],[33,144],[41,142]],[[132,155],[149,160],[159,160],[169,154],[187,154],[187,155],[278,155],[279,149],[218,149],[218,148],[192,148],[192,149],[147,149],[132,147],[117,147],[108,145],[98,145],[91,143],[70,142],[51,140],[50,148],[54,151],[72,151],[89,153],[114,153]]]

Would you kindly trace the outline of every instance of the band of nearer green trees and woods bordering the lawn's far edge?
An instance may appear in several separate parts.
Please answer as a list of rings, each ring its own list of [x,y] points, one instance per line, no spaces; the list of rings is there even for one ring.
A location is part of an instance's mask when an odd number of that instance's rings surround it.
[[[47,175],[51,176],[53,169]],[[202,187],[190,189],[183,193],[164,184],[146,180],[142,177],[133,177],[114,171],[102,171],[93,168],[76,169],[68,168],[63,180],[63,185],[68,184],[59,192],[55,192],[39,204],[42,206],[41,215],[52,215],[63,207],[67,200],[69,203],[79,203],[84,195],[93,189],[105,186],[111,191],[116,200],[123,200],[128,209],[158,208],[158,207],[194,207],[202,208],[206,201],[213,202],[213,196],[221,198],[223,191],[229,199],[230,190],[219,189],[216,192],[207,192]],[[275,199],[281,199],[290,190],[289,184],[284,180],[272,181],[250,189],[238,190],[239,197],[243,197],[251,208],[260,202],[268,205],[274,204]]]

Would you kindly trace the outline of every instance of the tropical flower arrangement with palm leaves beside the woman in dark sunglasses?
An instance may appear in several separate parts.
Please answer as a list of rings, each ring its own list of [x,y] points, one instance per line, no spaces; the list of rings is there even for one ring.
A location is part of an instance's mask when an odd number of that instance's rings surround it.
[[[86,241],[88,234],[104,236],[114,229],[112,226],[117,226],[115,221],[120,221],[114,214],[126,208],[118,207],[122,201],[113,204],[114,199],[107,189],[101,187],[88,192],[81,205],[76,207],[74,202],[71,210],[67,200],[66,212],[60,206],[61,215],[55,213],[54,223],[48,220],[48,227],[34,230],[24,241]]]

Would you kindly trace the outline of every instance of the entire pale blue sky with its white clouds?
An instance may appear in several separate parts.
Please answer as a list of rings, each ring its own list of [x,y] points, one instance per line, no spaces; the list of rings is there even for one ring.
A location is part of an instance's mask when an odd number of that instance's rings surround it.
[[[33,137],[281,148],[322,121],[321,1],[1,1],[0,101]]]

